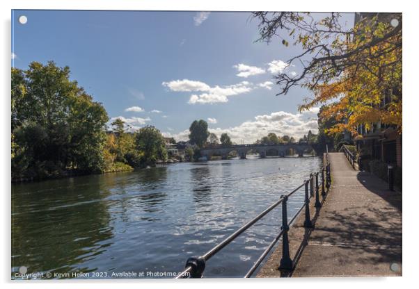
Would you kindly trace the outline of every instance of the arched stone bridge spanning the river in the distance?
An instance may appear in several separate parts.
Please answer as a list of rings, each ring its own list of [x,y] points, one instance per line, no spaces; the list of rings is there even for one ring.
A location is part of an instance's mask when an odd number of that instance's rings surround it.
[[[284,157],[290,149],[294,149],[299,156],[303,156],[305,151],[312,151],[313,149],[316,151],[316,154],[319,154],[317,143],[315,142],[285,142],[278,145],[252,144],[232,145],[230,147],[207,147],[201,149],[200,154],[201,156],[207,157],[208,160],[210,160],[212,156],[221,156],[221,158],[227,159],[230,152],[237,151],[237,156],[245,159],[248,151],[252,150],[258,153],[260,158],[264,158],[267,155]]]

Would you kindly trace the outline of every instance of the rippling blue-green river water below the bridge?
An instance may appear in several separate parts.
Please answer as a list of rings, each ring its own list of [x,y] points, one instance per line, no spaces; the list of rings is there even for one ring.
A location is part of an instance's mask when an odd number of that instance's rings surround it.
[[[27,273],[62,273],[55,278],[167,278],[321,166],[313,157],[249,156],[13,184],[12,276],[25,266]],[[302,204],[300,190],[288,201],[289,217]],[[280,213],[271,211],[212,257],[205,277],[244,276],[280,230]]]

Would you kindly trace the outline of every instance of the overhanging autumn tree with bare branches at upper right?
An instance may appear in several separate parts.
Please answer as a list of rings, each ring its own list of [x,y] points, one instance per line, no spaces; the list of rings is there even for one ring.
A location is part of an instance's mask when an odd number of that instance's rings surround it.
[[[338,123],[327,133],[347,130],[355,134],[356,126],[368,129],[374,122],[393,125],[402,133],[401,14],[390,15],[396,19],[393,25],[386,15],[358,17],[353,28],[340,24],[339,13],[320,20],[309,13],[258,12],[253,16],[260,20],[260,40],[269,42],[280,35],[285,46],[292,39],[303,48],[303,53],[287,61],[287,67],[302,63],[303,71],[293,76],[284,69],[275,76],[278,94],[296,85],[314,92],[315,97],[299,110],[332,102],[322,113],[326,119],[333,115]]]

